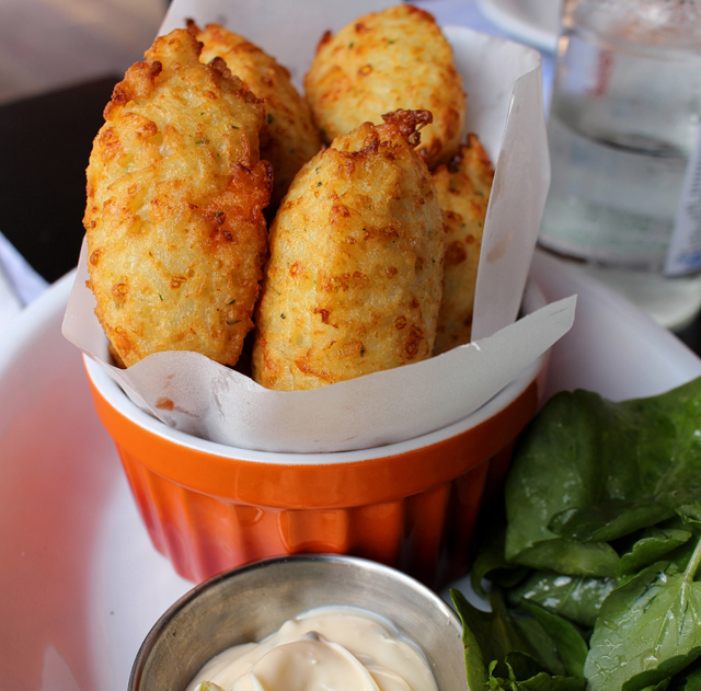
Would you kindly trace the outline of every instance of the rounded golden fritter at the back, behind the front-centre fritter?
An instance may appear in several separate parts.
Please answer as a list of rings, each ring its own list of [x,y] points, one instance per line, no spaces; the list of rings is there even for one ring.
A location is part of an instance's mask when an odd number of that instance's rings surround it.
[[[434,18],[412,5],[367,14],[321,39],[304,78],[307,100],[326,142],[398,108],[434,116],[417,148],[428,168],[456,152],[466,95],[452,49]]]

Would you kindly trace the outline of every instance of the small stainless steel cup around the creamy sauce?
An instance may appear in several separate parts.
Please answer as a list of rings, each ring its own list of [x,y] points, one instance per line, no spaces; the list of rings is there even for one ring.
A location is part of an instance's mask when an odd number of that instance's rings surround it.
[[[129,691],[184,691],[218,653],[260,641],[306,610],[333,604],[390,620],[423,650],[440,691],[468,688],[462,626],[437,595],[375,562],[310,554],[255,562],[191,590],[143,641]]]

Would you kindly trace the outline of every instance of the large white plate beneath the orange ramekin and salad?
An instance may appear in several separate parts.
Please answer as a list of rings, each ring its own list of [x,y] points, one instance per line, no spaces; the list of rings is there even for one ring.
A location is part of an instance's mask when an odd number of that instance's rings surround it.
[[[579,293],[550,392],[652,395],[701,360],[622,298],[545,255],[549,299]],[[0,339],[0,686],[124,691],[151,625],[191,584],[149,542],[79,353],[60,334],[72,276]]]

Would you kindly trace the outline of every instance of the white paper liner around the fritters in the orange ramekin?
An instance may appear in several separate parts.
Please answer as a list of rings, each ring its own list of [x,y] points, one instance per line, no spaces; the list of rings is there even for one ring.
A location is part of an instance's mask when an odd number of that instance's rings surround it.
[[[275,24],[272,5],[277,3],[287,4],[266,0],[268,10],[257,21]],[[345,14],[349,11],[343,2],[329,4]],[[309,9],[310,3],[302,5]],[[358,3],[348,5],[350,19],[363,11]],[[191,16],[200,24],[218,21],[244,33],[230,21],[231,8],[242,7],[241,2],[174,0],[164,28],[183,25],[184,18]],[[345,21],[331,25],[337,28]],[[445,33],[468,92],[468,129],[480,136],[497,161],[473,322],[475,337],[487,337],[423,362],[314,391],[269,391],[188,352],[158,353],[119,370],[108,365],[107,341],[94,315],[94,297],[85,287],[84,243],[64,335],[100,362],[137,405],[166,425],[252,450],[330,452],[382,446],[440,429],[493,398],[570,330],[575,299],[561,300],[512,323],[524,293],[550,178],[540,58],[530,48],[467,28],[447,27]],[[258,34],[251,31],[249,37],[255,41]],[[273,45],[257,42],[277,57],[297,56],[288,65],[297,74],[307,68],[308,62],[299,62],[299,56],[308,53],[304,35],[287,35],[284,50],[275,41]]]

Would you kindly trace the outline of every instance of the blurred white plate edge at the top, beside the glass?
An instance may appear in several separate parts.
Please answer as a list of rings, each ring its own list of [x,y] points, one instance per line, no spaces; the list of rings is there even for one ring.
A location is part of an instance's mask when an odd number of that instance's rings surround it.
[[[478,0],[485,16],[508,34],[541,50],[554,50],[561,0]]]

